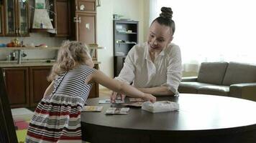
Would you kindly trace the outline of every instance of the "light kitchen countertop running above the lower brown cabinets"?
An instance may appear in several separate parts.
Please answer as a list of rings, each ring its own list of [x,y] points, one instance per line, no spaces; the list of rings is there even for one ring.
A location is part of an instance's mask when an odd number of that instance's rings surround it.
[[[17,61],[0,61],[0,67],[22,67],[22,66],[52,66],[55,63],[55,60],[29,60],[22,61],[21,64],[17,64]],[[99,61],[93,61],[94,64],[100,64]]]

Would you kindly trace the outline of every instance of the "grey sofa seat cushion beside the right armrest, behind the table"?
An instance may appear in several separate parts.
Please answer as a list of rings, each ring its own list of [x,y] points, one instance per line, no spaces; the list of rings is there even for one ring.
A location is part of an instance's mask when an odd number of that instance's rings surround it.
[[[209,85],[200,87],[198,89],[198,94],[229,96],[229,86]]]

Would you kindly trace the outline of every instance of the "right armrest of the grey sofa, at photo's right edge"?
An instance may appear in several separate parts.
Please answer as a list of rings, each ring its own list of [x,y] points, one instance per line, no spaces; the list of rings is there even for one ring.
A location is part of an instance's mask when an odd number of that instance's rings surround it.
[[[232,84],[229,88],[231,97],[249,99],[256,102],[256,82]]]

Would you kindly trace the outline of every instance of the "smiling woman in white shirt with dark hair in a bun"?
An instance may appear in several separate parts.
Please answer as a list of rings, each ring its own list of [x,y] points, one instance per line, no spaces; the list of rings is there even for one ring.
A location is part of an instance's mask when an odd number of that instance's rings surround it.
[[[172,9],[162,7],[161,11],[150,25],[147,42],[132,47],[115,79],[132,83],[148,94],[175,95],[182,77],[180,48],[171,43],[175,32]],[[116,92],[112,93],[112,102],[116,95]]]

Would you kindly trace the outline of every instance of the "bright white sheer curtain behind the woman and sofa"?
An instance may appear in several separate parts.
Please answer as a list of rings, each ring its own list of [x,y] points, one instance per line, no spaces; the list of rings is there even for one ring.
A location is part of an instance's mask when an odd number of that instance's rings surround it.
[[[150,0],[150,17],[162,6],[173,9],[183,71],[198,71],[204,61],[256,64],[254,0]]]

